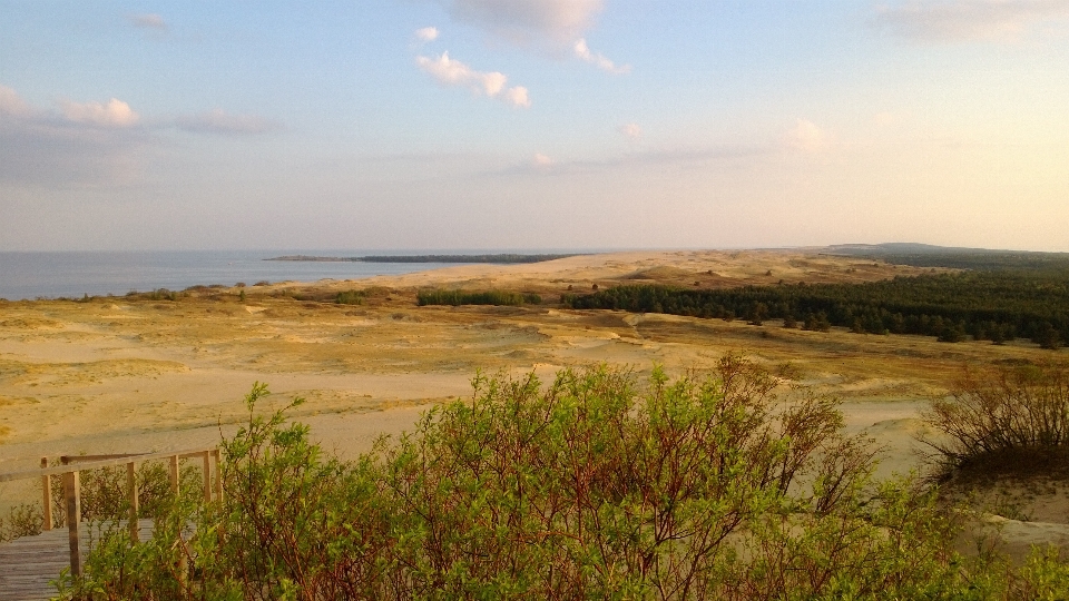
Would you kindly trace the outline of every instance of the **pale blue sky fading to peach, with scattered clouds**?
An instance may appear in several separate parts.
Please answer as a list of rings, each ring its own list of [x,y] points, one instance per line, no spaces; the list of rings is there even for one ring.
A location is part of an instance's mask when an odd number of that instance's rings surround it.
[[[1067,0],[0,0],[0,250],[1067,226]]]

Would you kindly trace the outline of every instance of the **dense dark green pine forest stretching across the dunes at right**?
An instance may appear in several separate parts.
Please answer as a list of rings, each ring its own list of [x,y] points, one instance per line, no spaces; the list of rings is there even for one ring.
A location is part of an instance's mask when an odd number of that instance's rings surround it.
[[[1069,272],[965,272],[866,284],[798,284],[694,290],[618,286],[566,295],[573,308],[697,317],[804,321],[807,329],[849,327],[874,334],[921,334],[943,342],[971,335],[996,344],[1030,338],[1045,348],[1069,341]]]

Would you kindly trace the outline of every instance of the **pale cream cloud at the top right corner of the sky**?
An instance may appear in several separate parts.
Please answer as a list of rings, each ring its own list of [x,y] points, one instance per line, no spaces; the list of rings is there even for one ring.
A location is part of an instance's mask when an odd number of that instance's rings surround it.
[[[1066,0],[908,0],[876,8],[874,22],[918,41],[1011,40],[1030,24],[1069,18]]]

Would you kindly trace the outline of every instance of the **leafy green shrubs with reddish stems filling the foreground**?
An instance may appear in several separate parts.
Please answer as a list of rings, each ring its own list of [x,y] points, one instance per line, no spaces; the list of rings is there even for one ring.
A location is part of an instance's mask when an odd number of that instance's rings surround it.
[[[284,412],[223,443],[225,501],[105,534],[62,595],[91,599],[1034,599],[1020,569],[951,550],[934,490],[876,482],[833,401],[782,403],[736,356],[709,378],[474,380],[470,400],[354,462]],[[295,401],[298,404],[300,401]],[[190,528],[193,526],[193,528]],[[185,532],[184,542],[179,534]]]

